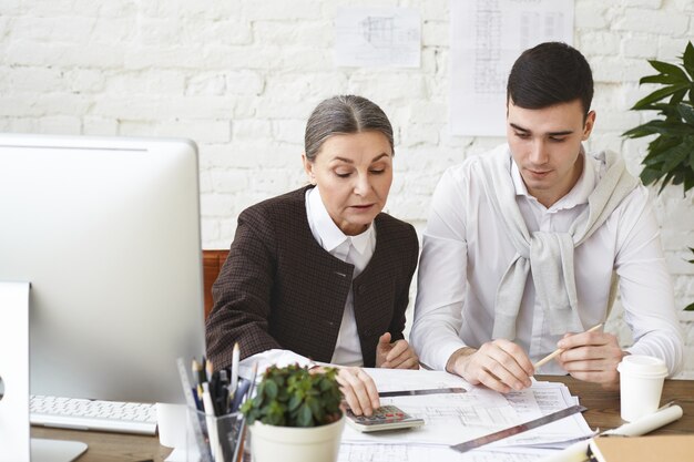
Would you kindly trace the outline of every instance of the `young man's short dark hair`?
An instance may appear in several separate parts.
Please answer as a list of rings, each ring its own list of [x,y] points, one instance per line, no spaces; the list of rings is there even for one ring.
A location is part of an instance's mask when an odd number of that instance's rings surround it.
[[[561,42],[545,42],[523,51],[507,85],[507,104],[543,109],[581,100],[588,115],[593,100],[593,74],[583,54]]]

